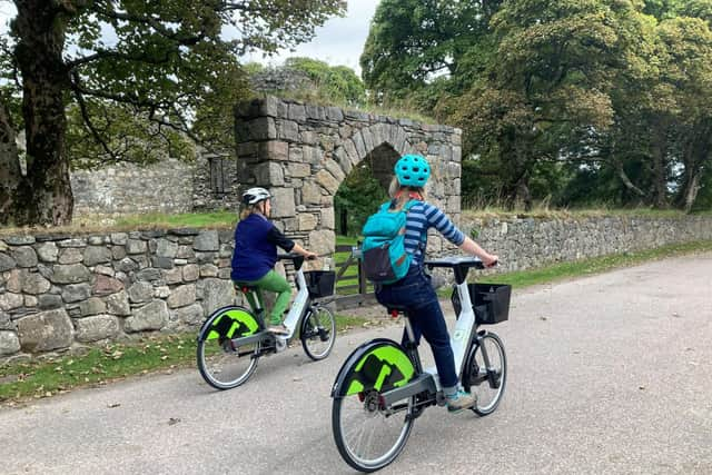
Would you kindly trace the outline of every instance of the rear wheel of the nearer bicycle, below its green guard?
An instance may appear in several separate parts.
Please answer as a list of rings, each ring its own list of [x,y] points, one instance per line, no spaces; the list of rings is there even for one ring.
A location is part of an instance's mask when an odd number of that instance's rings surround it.
[[[414,409],[415,396],[384,407],[375,389],[334,398],[332,428],[339,454],[360,472],[385,467],[405,447]]]

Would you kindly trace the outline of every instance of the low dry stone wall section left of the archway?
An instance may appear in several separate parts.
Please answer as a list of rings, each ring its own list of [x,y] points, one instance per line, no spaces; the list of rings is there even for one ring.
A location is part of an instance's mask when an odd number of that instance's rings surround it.
[[[233,230],[0,238],[0,359],[196,328],[235,301]]]

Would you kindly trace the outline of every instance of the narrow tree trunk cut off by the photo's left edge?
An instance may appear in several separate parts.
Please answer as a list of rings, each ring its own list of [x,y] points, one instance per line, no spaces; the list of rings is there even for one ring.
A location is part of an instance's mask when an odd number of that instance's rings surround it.
[[[14,129],[3,103],[0,103],[0,225],[11,222],[14,194],[22,175],[14,142]]]

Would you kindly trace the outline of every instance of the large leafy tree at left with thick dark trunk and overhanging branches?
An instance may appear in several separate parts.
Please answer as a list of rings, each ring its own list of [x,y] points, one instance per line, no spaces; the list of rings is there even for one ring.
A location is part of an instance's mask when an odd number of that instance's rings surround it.
[[[17,108],[6,93],[0,221],[19,225],[71,220],[68,111],[81,118],[85,132],[107,157],[120,152],[108,126],[115,116],[140,117],[154,127],[151,133],[168,141],[170,133],[164,131],[202,131],[210,138],[211,118],[239,92],[239,55],[273,52],[309,39],[316,26],[345,9],[343,0],[13,3],[3,73],[21,93],[27,175],[20,172],[13,147]]]

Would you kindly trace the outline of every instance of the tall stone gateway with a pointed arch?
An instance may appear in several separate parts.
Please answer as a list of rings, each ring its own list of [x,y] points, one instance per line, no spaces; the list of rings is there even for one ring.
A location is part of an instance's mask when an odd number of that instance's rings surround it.
[[[241,187],[268,188],[277,226],[319,255],[334,253],[334,195],[342,181],[368,159],[387,186],[394,150],[428,159],[428,200],[459,221],[459,129],[276,97],[240,103],[235,115]],[[428,239],[432,250],[442,246],[437,237]]]

